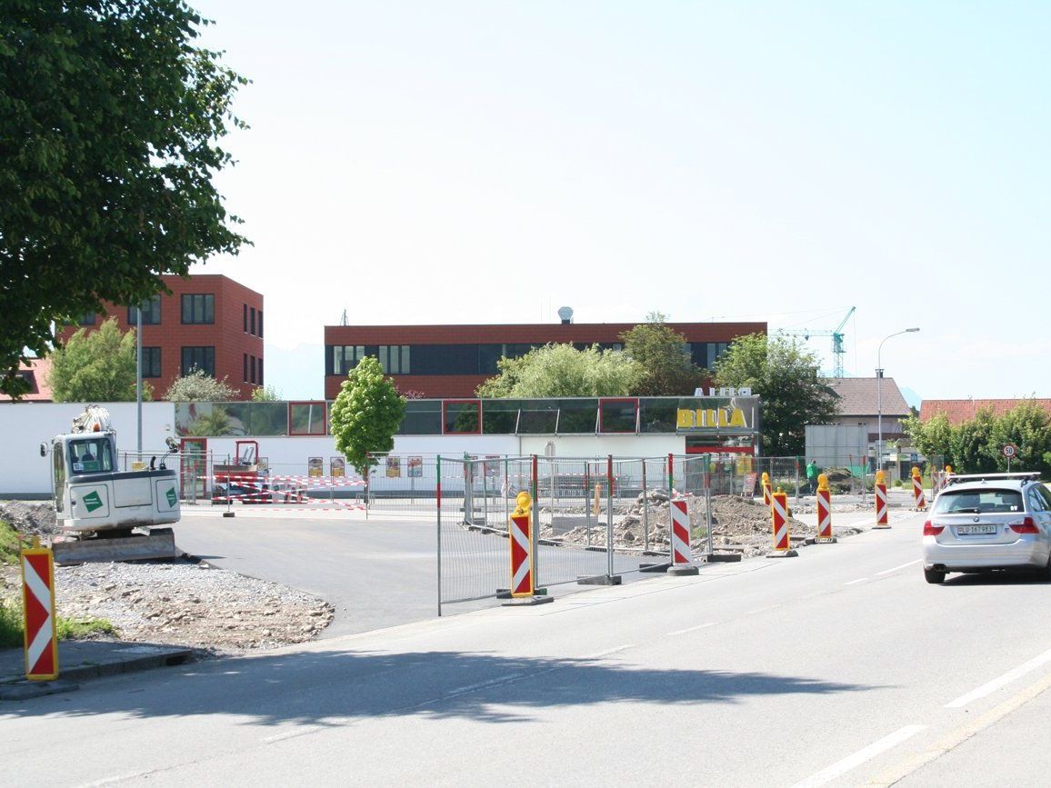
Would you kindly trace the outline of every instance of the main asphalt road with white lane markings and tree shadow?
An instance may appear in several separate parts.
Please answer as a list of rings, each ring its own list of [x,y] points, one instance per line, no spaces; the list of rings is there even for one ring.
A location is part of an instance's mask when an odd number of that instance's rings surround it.
[[[1049,586],[921,523],[5,704],[4,782],[1046,784]]]

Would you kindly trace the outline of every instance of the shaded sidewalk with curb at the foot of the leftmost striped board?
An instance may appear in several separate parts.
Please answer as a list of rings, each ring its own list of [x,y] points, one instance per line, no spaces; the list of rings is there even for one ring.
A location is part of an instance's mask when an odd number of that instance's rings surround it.
[[[77,682],[103,676],[181,665],[193,659],[193,649],[126,641],[59,642],[59,678],[26,681],[21,648],[0,648],[0,702],[19,701],[77,689]]]

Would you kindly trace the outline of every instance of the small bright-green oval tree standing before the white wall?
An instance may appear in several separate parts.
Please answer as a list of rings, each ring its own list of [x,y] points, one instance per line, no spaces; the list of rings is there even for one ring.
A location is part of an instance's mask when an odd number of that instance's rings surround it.
[[[394,448],[394,433],[405,416],[405,397],[384,377],[379,360],[363,358],[347,375],[332,403],[335,448],[357,472],[368,477],[376,464],[370,453]]]

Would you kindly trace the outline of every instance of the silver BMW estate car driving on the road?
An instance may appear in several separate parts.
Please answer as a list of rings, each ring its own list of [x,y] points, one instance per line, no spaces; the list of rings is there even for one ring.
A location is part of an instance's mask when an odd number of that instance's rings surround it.
[[[923,574],[1036,569],[1051,580],[1051,493],[1038,473],[954,476],[923,526]]]

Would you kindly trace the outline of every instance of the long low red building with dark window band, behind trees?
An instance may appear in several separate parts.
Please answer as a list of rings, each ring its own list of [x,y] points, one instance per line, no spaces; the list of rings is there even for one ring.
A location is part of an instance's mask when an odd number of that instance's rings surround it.
[[[524,355],[548,343],[578,348],[598,344],[620,349],[620,335],[632,323],[562,323],[488,326],[326,326],[325,397],[334,399],[339,383],[362,358],[376,356],[401,392],[426,397],[473,397],[475,389],[497,373],[501,356]],[[694,364],[712,369],[739,336],[766,333],[765,323],[671,323],[686,337]]]

